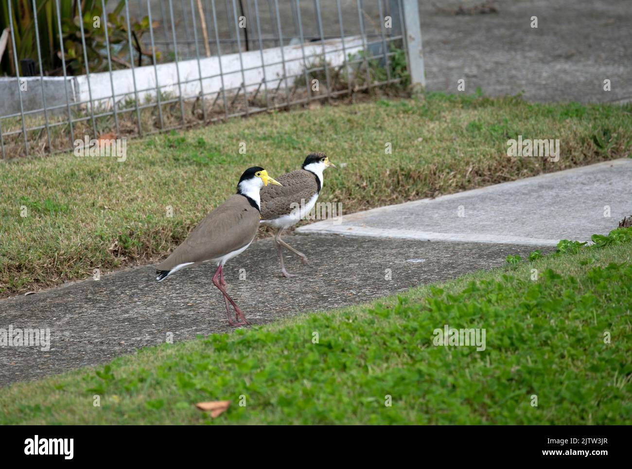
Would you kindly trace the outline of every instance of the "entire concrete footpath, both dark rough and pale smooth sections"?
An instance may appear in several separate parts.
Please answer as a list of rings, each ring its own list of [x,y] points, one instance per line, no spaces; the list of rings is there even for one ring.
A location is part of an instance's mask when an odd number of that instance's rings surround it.
[[[227,264],[228,292],[252,324],[265,324],[501,266],[507,254],[614,229],[632,213],[631,181],[632,160],[616,160],[313,223],[298,230],[310,235],[286,237],[313,269],[286,254],[300,276],[279,278],[274,240],[260,240]],[[0,348],[0,386],[102,364],[170,335],[233,330],[213,273],[200,265],[157,283],[143,266],[0,300],[0,329],[51,329],[50,350]]]

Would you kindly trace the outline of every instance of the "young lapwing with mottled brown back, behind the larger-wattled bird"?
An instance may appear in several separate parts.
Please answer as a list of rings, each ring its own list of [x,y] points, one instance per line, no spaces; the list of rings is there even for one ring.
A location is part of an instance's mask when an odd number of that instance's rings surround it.
[[[292,277],[294,274],[285,270],[283,263],[283,247],[287,247],[301,258],[303,264],[308,264],[307,256],[303,252],[296,251],[281,239],[281,232],[296,225],[310,213],[318,200],[322,189],[322,173],[325,168],[336,167],[329,161],[325,153],[310,153],[303,162],[302,169],[289,172],[279,177],[281,187],[264,187],[261,191],[261,223],[276,228],[274,237],[279,250],[281,261],[281,275]]]

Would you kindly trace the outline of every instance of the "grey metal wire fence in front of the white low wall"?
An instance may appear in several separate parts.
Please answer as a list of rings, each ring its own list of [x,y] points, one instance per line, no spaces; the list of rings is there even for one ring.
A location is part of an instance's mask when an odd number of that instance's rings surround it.
[[[1,1],[2,158],[423,85],[416,0]]]

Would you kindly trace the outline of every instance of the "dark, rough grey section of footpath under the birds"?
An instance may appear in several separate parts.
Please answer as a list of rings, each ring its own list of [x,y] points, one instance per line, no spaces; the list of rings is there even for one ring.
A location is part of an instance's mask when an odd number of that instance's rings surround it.
[[[279,278],[274,241],[255,242],[226,264],[228,292],[252,324],[301,312],[367,302],[420,283],[440,282],[504,264],[507,254],[531,247],[414,240],[348,239],[332,235],[287,236],[314,268],[286,256],[286,268],[300,274]],[[245,280],[240,279],[240,269]],[[386,280],[386,269],[392,280]],[[214,268],[200,265],[156,282],[145,266],[0,300],[0,328],[50,328],[51,350],[0,348],[0,386],[38,379],[83,365],[107,362],[137,348],[233,331]]]

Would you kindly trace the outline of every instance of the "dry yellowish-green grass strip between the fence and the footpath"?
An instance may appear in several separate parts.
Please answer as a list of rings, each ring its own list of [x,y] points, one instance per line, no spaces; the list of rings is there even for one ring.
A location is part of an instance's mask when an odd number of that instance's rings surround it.
[[[327,171],[321,199],[351,213],[627,156],[631,110],[428,93],[422,102],[277,112],[130,141],[125,162],[13,158],[0,165],[0,295],[166,255],[252,165],[274,177],[325,151],[346,165]],[[507,157],[518,134],[559,138],[559,162]]]

